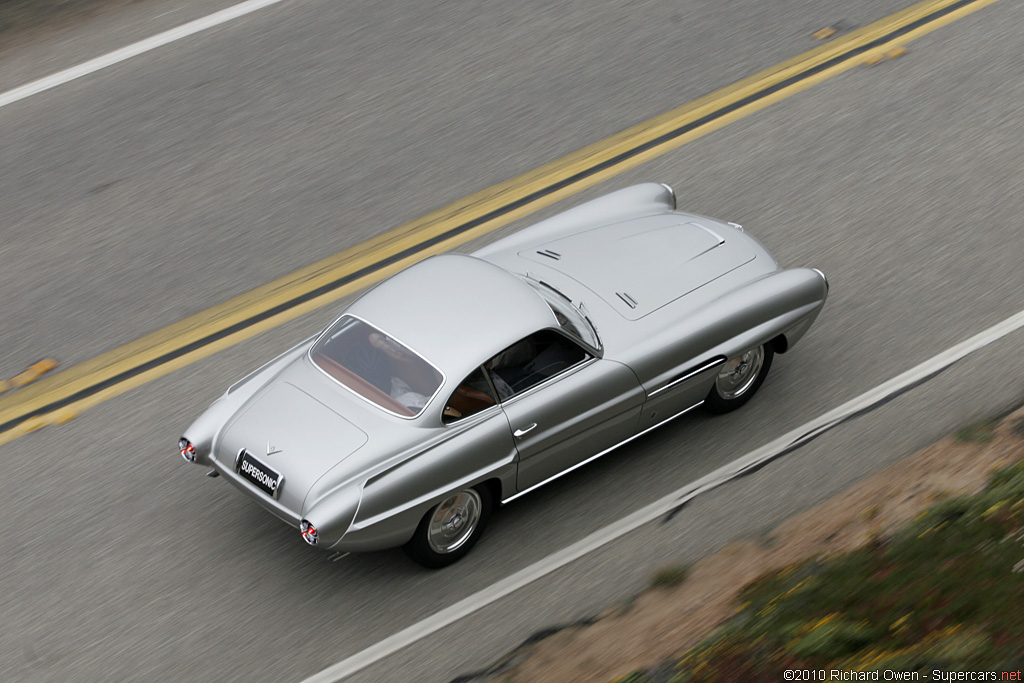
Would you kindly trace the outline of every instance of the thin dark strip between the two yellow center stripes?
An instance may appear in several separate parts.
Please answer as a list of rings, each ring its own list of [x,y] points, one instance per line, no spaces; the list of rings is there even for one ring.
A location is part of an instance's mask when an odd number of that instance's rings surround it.
[[[247,4],[250,3],[243,3],[243,5]],[[270,3],[266,2],[266,0],[262,0],[259,3],[254,2],[252,4],[253,6],[256,6],[257,4],[263,6],[264,4],[270,4]],[[730,114],[740,111],[744,106],[749,106],[751,104],[757,103],[760,100],[764,100],[770,97],[771,95],[778,93],[788,87],[800,84],[802,81],[807,81],[808,79],[811,79],[814,76],[827,71],[828,69],[833,69],[837,66],[850,62],[856,57],[863,55],[864,53],[869,52],[874,48],[881,47],[882,45],[890,43],[894,40],[898,40],[899,38],[906,36],[907,34],[910,34],[911,32],[918,29],[926,27],[929,24],[933,24],[938,19],[941,19],[957,10],[970,7],[972,5],[983,6],[984,4],[988,4],[986,0],[958,0],[957,2],[953,2],[948,5],[939,7],[938,9],[935,9],[925,14],[924,16],[921,16],[912,22],[909,22],[906,25],[898,26],[892,29],[891,31],[886,32],[885,34],[874,38],[873,40],[870,40],[869,42],[863,43],[861,45],[855,45],[854,47],[836,55],[830,59],[808,67],[807,69],[797,74],[794,74],[790,78],[786,78],[777,83],[773,83],[771,85],[758,89],[755,92],[746,95],[745,97],[730,102],[726,105],[723,105],[694,121],[690,121],[685,125],[667,131],[658,135],[657,137],[636,144],[633,147],[630,147],[614,157],[587,166],[582,170],[572,173],[571,175],[558,179],[554,182],[550,182],[547,185],[544,185],[527,195],[524,195],[523,197],[520,197],[514,201],[499,206],[498,208],[487,213],[484,213],[480,216],[477,216],[470,220],[463,221],[451,227],[450,229],[444,230],[443,232],[440,232],[426,240],[418,242],[396,253],[387,255],[384,258],[381,258],[353,272],[346,273],[341,278],[337,278],[312,290],[303,292],[302,294],[295,296],[291,299],[288,299],[284,302],[281,302],[270,308],[261,310],[258,313],[253,314],[243,321],[239,321],[227,327],[220,328],[210,334],[207,334],[199,339],[189,341],[188,343],[182,344],[181,346],[178,346],[157,357],[140,362],[125,371],[115,374],[109,378],[94,382],[78,391],[75,391],[74,393],[51,400],[43,405],[40,405],[39,408],[27,411],[20,415],[16,415],[6,420],[5,422],[0,423],[0,436],[2,436],[5,432],[9,432],[12,429],[18,427],[19,425],[32,420],[33,418],[45,416],[47,414],[72,405],[80,400],[89,398],[90,396],[93,396],[105,389],[115,387],[123,382],[131,380],[132,378],[142,375],[143,373],[160,368],[161,366],[176,360],[182,356],[187,355],[188,353],[200,350],[217,341],[230,337],[233,334],[252,328],[253,326],[261,322],[264,322],[278,314],[294,309],[304,303],[316,299],[317,297],[339,290],[342,287],[357,282],[358,280],[366,278],[368,275],[372,275],[375,272],[378,272],[389,265],[398,263],[401,260],[410,257],[415,257],[417,254],[423,253],[432,247],[436,247],[441,243],[444,243],[449,240],[452,240],[463,233],[466,233],[472,230],[473,228],[479,227],[487,222],[490,222],[508,214],[512,214],[516,210],[522,209],[523,207],[527,207],[534,203],[537,203],[544,198],[552,196],[558,193],[559,190],[565,189],[587,178],[598,175],[604,171],[608,171],[609,169],[613,169],[614,167],[620,166],[631,159],[639,157],[640,155],[646,152],[650,152],[658,146],[672,142],[673,140],[676,140],[677,138],[680,138],[686,135],[687,133],[698,130],[703,126],[713,124],[716,121],[719,121]]]

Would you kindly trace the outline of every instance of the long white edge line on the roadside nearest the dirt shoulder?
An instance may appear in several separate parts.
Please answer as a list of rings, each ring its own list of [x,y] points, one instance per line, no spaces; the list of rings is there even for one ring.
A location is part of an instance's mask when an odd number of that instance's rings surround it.
[[[302,683],[337,683],[352,674],[355,674],[367,667],[380,661],[384,657],[394,654],[398,650],[407,647],[418,640],[425,638],[446,626],[458,622],[465,616],[500,600],[501,598],[514,593],[520,588],[551,573],[555,569],[565,566],[569,562],[587,555],[602,546],[633,531],[644,524],[651,522],[662,515],[678,508],[683,503],[690,501],[700,494],[707,493],[723,483],[742,474],[750,467],[760,462],[774,458],[778,453],[786,449],[794,440],[800,438],[809,431],[831,424],[834,421],[845,416],[852,415],[886,396],[893,394],[914,382],[928,377],[936,371],[942,370],[956,362],[961,358],[977,351],[992,342],[1001,339],[1024,327],[1024,311],[1021,311],[1004,322],[994,325],[987,330],[971,337],[952,348],[939,353],[932,358],[911,368],[902,375],[879,385],[874,389],[866,391],[856,398],[853,398],[839,408],[825,413],[824,415],[800,426],[796,429],[779,436],[775,440],[752,451],[745,456],[738,458],[731,463],[715,470],[714,472],[700,477],[696,481],[686,484],[682,488],[669,494],[665,498],[651,503],[645,508],[637,510],[633,514],[625,517],[613,524],[594,531],[590,536],[573,543],[556,553],[548,555],[542,560],[530,564],[519,571],[490,585],[476,593],[466,597],[455,604],[441,609],[413,626],[399,631],[398,633],[385,638],[372,645],[361,652],[357,652],[350,657],[328,667],[324,671],[310,676]]]

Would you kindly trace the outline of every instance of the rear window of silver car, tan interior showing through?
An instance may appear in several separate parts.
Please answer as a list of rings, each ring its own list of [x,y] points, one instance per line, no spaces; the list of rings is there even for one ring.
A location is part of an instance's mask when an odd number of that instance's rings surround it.
[[[340,317],[309,357],[351,391],[401,417],[419,415],[443,381],[416,351],[351,315]]]

